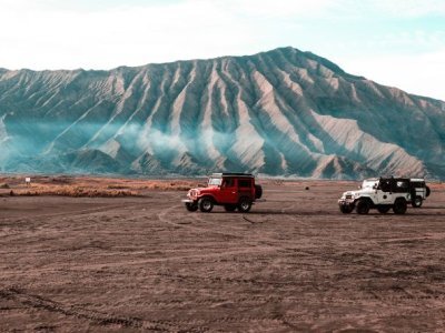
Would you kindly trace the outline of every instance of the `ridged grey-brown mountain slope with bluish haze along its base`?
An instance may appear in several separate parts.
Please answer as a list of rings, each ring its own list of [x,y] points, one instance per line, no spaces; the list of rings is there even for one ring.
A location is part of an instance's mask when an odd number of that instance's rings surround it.
[[[293,48],[111,71],[0,70],[0,170],[445,178],[445,103]]]

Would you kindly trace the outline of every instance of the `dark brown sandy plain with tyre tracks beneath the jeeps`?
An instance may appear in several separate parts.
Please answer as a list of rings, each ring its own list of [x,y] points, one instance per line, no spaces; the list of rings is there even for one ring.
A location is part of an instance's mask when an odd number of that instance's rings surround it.
[[[356,186],[269,182],[249,214],[0,198],[0,331],[444,332],[445,189],[340,214]]]

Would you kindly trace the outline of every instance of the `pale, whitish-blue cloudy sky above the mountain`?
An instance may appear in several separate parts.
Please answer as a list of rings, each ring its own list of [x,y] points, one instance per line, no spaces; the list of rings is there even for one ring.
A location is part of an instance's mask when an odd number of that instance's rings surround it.
[[[0,0],[8,69],[110,69],[288,46],[445,100],[444,0]]]

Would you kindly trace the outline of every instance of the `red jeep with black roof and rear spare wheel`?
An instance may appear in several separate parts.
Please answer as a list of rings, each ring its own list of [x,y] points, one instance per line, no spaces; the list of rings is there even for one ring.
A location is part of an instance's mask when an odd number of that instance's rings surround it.
[[[255,176],[249,173],[214,173],[207,188],[191,189],[182,200],[190,212],[198,208],[209,213],[214,205],[224,205],[227,212],[238,209],[247,213],[255,200],[261,198],[263,188],[255,184]]]

